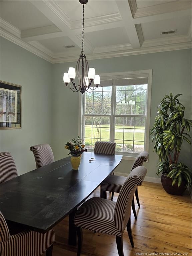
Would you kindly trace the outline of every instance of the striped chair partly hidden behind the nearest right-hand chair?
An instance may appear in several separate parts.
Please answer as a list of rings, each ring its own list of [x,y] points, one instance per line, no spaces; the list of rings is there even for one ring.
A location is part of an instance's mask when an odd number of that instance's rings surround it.
[[[131,171],[140,165],[143,165],[144,162],[147,161],[149,157],[149,153],[144,151],[141,152],[138,157],[135,159],[133,166],[131,168]],[[119,193],[121,190],[121,187],[123,185],[123,183],[125,182],[127,177],[124,176],[118,176],[118,175],[113,175],[113,176],[108,176],[104,182],[101,184],[101,196],[106,198],[106,191],[112,191],[112,196],[111,196],[111,200],[113,200],[113,195],[114,192]],[[140,207],[140,203],[139,203],[139,196],[138,196],[138,189],[136,188],[135,190],[135,197],[137,200],[137,204]],[[135,210],[135,203],[134,203],[134,197],[133,197],[133,202],[132,202],[132,209],[133,209],[133,213],[135,216],[135,219],[137,219],[137,214],[136,214],[136,210]]]

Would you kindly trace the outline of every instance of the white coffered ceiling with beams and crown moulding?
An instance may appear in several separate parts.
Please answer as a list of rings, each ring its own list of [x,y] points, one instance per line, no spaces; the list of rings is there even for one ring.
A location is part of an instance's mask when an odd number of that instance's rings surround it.
[[[76,61],[82,7],[78,0],[0,1],[0,35],[51,63]],[[161,35],[170,30],[176,33]],[[84,36],[87,59],[191,48],[191,0],[89,0]]]

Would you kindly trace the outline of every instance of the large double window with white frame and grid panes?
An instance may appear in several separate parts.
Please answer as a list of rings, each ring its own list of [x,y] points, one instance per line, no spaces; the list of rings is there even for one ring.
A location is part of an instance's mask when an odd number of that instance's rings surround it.
[[[152,70],[101,75],[101,84],[83,95],[82,138],[88,149],[95,141],[115,141],[116,152],[148,151]]]

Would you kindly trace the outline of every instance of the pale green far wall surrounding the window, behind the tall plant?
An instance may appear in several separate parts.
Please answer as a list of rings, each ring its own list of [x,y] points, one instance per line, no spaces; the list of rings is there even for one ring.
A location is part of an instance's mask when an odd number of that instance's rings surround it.
[[[77,56],[78,58],[78,56]],[[63,73],[76,63],[53,65],[53,84],[55,94],[53,148],[56,157],[62,158],[68,153],[64,149],[65,142],[78,135],[78,93],[64,87]],[[181,103],[186,107],[186,118],[191,119],[191,49],[133,55],[110,59],[90,60],[90,67],[95,67],[96,73],[111,73],[152,69],[152,95],[150,127],[157,115],[157,105],[161,99],[172,92],[182,93]],[[148,169],[147,176],[156,177],[158,157],[149,144],[149,162],[144,165]],[[180,160],[191,166],[191,146],[184,143]],[[123,160],[118,166],[118,172],[128,173],[133,162]]]

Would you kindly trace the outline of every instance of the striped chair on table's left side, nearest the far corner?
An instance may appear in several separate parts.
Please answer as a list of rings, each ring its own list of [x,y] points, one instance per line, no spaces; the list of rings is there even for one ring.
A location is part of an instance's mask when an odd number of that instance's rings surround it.
[[[39,144],[31,146],[30,150],[33,152],[37,168],[53,163],[53,151],[49,144]]]

